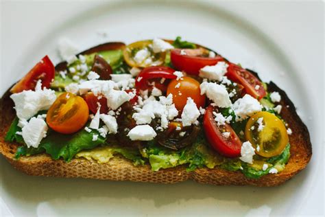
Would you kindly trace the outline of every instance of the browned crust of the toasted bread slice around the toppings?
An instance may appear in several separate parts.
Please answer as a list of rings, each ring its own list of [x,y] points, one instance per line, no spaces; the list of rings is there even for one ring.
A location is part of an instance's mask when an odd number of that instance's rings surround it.
[[[67,163],[63,160],[53,160],[46,154],[21,157],[19,160],[15,160],[14,153],[19,145],[4,141],[5,133],[15,117],[9,91],[0,100],[0,152],[14,168],[33,176],[82,177],[152,183],[177,183],[193,179],[199,183],[213,185],[280,185],[306,167],[311,159],[311,141],[306,126],[297,115],[295,106],[287,94],[273,82],[268,84],[268,89],[280,93],[282,97],[280,102],[282,105],[281,115],[293,133],[289,136],[291,157],[285,170],[278,174],[267,174],[261,179],[248,179],[241,172],[230,172],[218,167],[214,169],[200,168],[193,172],[186,172],[184,166],[178,166],[154,172],[149,165],[134,166],[123,157],[114,157],[108,163],[97,163],[86,159],[73,159]]]

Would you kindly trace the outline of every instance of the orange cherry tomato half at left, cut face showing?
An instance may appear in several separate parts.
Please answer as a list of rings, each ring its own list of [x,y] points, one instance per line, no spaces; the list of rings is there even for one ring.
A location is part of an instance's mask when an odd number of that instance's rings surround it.
[[[58,133],[70,134],[80,130],[88,121],[87,103],[73,93],[62,93],[47,111],[47,124]]]

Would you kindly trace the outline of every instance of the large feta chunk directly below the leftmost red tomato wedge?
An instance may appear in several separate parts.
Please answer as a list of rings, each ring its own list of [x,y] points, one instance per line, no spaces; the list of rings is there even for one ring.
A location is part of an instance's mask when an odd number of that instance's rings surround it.
[[[29,119],[38,111],[48,110],[56,100],[56,92],[51,89],[23,91],[10,95],[14,101],[14,109],[19,119]]]

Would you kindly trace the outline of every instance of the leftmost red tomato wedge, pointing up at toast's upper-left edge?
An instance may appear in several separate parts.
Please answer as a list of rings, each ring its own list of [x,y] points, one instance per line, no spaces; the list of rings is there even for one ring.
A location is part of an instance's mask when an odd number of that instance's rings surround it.
[[[56,69],[54,69],[49,56],[45,56],[10,91],[12,93],[19,93],[24,90],[35,90],[38,80],[42,80],[42,87],[49,88],[55,72]]]

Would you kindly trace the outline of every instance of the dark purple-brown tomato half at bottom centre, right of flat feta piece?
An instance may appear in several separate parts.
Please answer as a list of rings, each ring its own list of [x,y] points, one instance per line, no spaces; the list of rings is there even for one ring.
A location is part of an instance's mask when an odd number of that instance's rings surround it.
[[[200,127],[192,125],[182,127],[182,130],[176,130],[176,126],[177,124],[171,122],[167,130],[158,133],[158,144],[172,150],[179,150],[180,148],[193,144],[197,134],[200,132]],[[180,133],[185,134],[181,136]]]

